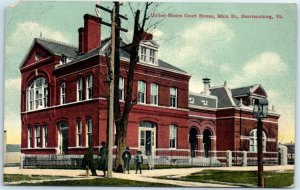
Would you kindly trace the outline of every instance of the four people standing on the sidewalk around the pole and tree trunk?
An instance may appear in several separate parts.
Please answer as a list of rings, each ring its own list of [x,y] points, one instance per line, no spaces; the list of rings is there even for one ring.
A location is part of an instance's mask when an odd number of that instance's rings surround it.
[[[87,170],[91,170],[93,176],[97,176],[96,168],[103,171],[103,176],[106,176],[107,171],[107,160],[108,160],[108,149],[106,147],[106,143],[101,143],[101,148],[99,149],[99,162],[95,163],[94,155],[93,155],[93,147],[89,147],[87,152],[85,153],[83,160],[82,160],[82,167]],[[131,160],[131,153],[129,151],[129,147],[126,147],[126,150],[122,154],[122,159],[124,161],[124,170],[123,173],[127,171],[129,174],[130,168],[130,160]],[[143,164],[143,156],[141,151],[137,151],[137,155],[135,156],[135,166],[136,172],[140,171],[142,173],[142,164]]]

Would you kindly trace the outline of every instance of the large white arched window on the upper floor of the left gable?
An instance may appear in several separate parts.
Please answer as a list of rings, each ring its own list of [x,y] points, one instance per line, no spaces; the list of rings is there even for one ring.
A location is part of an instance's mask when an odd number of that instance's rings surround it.
[[[35,78],[27,88],[27,110],[37,110],[47,107],[48,84],[44,77]]]

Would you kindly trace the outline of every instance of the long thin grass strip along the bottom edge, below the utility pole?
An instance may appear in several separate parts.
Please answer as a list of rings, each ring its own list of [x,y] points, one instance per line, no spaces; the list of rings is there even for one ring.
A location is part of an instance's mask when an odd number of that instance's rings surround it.
[[[30,186],[110,186],[110,187],[176,187],[169,184],[149,183],[142,181],[133,181],[117,178],[98,178],[98,179],[83,179],[83,180],[67,180],[67,181],[49,181],[41,183],[22,183],[20,185]]]

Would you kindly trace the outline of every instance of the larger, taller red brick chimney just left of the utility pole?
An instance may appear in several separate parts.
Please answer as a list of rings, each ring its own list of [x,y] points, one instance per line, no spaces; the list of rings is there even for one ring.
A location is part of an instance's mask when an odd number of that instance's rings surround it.
[[[83,31],[83,52],[89,52],[101,44],[101,18],[96,16],[84,15],[84,31]]]

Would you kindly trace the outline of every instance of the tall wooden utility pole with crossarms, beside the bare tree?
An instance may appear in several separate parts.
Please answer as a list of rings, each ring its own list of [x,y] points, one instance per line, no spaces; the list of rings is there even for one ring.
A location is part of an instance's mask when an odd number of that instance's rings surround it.
[[[127,17],[123,15],[116,15],[116,8],[112,10],[102,7],[96,4],[96,8],[100,8],[111,14],[111,24],[101,22],[106,26],[111,26],[111,55],[110,55],[110,69],[109,69],[109,111],[108,111],[108,160],[107,160],[107,177],[112,178],[113,170],[113,130],[114,130],[114,83],[115,83],[115,53],[116,53],[116,29],[127,32],[126,29],[117,26],[116,20],[123,18],[127,20]],[[100,36],[101,37],[101,36]],[[119,39],[117,39],[119,40]],[[100,39],[101,41],[101,39]],[[119,43],[119,42],[118,42]],[[117,46],[119,47],[119,46]]]

